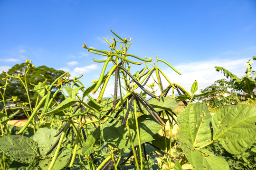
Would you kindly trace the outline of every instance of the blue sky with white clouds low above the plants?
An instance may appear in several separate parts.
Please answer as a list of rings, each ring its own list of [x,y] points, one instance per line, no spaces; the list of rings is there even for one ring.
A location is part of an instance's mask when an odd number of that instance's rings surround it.
[[[82,45],[108,50],[109,29],[132,38],[129,53],[153,61],[158,55],[177,68],[181,76],[160,65],[172,82],[190,90],[197,80],[202,89],[224,77],[214,66],[243,76],[244,63],[256,56],[256,1],[0,0],[0,70],[30,59],[83,74],[88,87],[103,64]]]

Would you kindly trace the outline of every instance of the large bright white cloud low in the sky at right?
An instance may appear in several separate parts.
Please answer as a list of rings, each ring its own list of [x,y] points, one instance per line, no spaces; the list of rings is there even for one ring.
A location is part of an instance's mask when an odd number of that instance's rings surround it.
[[[225,78],[224,74],[216,71],[215,66],[223,67],[228,69],[228,71],[237,75],[238,77],[244,76],[246,67],[244,64],[248,61],[246,59],[215,59],[206,61],[197,61],[190,63],[181,63],[174,66],[182,75],[178,75],[171,68],[165,68],[162,71],[169,78],[171,83],[177,83],[184,87],[188,92],[190,92],[191,85],[195,80],[198,82],[199,90],[208,87],[213,84],[214,81],[218,79]],[[161,76],[163,80],[164,77]],[[167,81],[164,81],[163,86],[168,85]],[[197,92],[199,93],[199,91]]]

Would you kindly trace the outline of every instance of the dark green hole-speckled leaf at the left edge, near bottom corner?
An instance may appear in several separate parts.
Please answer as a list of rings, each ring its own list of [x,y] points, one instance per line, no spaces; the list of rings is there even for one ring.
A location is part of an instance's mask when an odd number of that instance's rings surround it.
[[[21,135],[1,137],[0,149],[12,159],[21,163],[33,162],[39,156],[37,142]]]

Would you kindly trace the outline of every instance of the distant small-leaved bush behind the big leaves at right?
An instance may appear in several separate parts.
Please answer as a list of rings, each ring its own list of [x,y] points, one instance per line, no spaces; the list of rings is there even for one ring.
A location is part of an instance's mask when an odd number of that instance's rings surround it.
[[[200,90],[201,93],[207,93],[210,91],[215,92],[206,96],[200,96],[199,100],[211,108],[222,108],[224,106],[240,102],[235,85],[232,81],[220,79],[215,81],[214,84],[209,87]]]

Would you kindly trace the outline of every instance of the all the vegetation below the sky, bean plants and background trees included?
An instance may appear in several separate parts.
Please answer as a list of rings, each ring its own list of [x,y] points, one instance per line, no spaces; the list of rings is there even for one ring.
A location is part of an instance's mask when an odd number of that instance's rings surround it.
[[[180,74],[169,63],[130,54],[131,38],[111,32],[109,51],[83,45],[106,58],[94,59],[104,66],[90,87],[69,72],[40,77],[29,60],[1,74],[1,170],[256,170],[252,60],[242,78],[216,67],[228,80],[187,91],[158,67]],[[110,78],[114,96],[103,98]],[[22,127],[9,123],[20,117]]]

